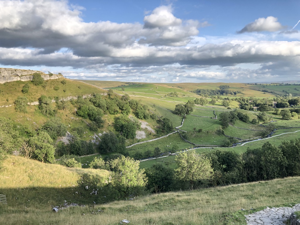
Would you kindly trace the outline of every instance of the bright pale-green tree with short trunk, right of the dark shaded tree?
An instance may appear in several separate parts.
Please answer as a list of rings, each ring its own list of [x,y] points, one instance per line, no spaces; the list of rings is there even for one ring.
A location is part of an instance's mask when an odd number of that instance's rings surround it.
[[[191,189],[195,182],[211,179],[214,175],[211,161],[204,155],[198,155],[195,150],[176,155],[175,161],[178,166],[176,176],[184,182],[189,182]]]

